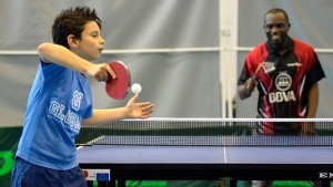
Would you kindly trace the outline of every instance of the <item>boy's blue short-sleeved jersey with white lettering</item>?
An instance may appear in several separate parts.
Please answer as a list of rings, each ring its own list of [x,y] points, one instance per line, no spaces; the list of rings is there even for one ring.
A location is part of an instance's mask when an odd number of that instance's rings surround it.
[[[17,156],[52,169],[78,166],[74,138],[82,118],[91,116],[92,96],[87,77],[41,61],[29,95]]]

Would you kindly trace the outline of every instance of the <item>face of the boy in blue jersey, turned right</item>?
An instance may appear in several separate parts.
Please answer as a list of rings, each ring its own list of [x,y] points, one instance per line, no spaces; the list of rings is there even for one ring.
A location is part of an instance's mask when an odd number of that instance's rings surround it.
[[[88,61],[94,61],[100,59],[104,42],[97,22],[90,21],[84,25],[81,39],[77,41],[78,45],[73,52]]]

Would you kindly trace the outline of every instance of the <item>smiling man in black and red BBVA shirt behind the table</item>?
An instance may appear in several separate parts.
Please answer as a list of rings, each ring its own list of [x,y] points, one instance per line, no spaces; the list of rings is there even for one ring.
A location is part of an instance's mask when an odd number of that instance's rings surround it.
[[[242,100],[259,90],[259,118],[314,118],[317,82],[325,77],[314,49],[287,35],[290,22],[282,9],[264,17],[268,41],[251,51],[239,77]],[[259,134],[313,134],[311,123],[259,123]]]

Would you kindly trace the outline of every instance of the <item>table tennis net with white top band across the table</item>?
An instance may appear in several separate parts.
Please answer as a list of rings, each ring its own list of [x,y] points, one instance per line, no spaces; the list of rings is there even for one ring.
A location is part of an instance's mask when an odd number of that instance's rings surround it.
[[[274,124],[283,134],[262,134],[261,123]],[[314,135],[300,135],[297,127],[315,126]],[[283,129],[292,127],[292,134]],[[259,131],[259,132],[258,132]],[[270,132],[269,129],[265,129]],[[276,133],[276,132],[275,132]],[[281,133],[281,132],[280,132]],[[331,118],[148,118],[124,120],[81,127],[77,145],[152,146],[331,146]]]

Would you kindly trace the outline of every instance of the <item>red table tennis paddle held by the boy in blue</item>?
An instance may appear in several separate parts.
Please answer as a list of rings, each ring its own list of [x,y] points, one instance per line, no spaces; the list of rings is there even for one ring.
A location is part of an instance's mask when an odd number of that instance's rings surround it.
[[[107,82],[105,91],[114,100],[122,100],[127,96],[131,85],[130,71],[121,61],[111,62],[110,67],[114,71],[117,77]]]

